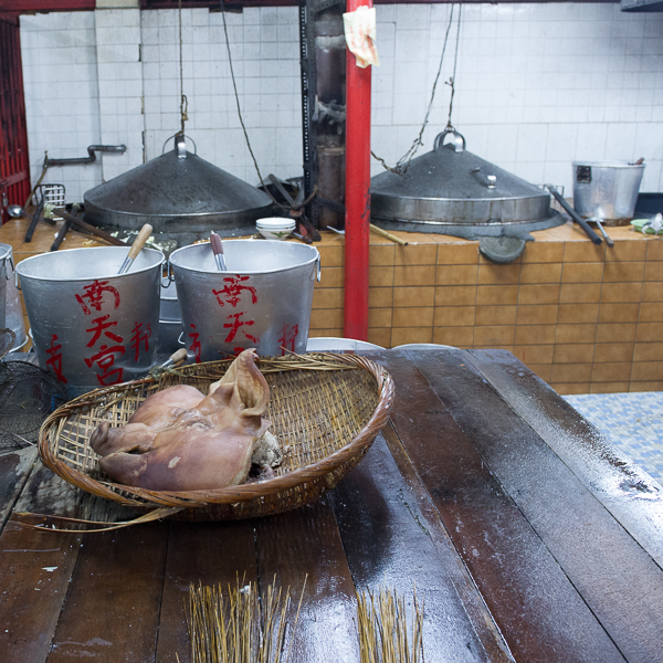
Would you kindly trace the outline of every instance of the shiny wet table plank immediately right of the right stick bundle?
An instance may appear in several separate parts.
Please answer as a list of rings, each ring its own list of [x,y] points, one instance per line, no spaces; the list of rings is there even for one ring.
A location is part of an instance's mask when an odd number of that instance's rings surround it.
[[[513,661],[398,438],[385,433],[389,448],[379,435],[333,494],[355,585],[394,588],[410,610],[415,588],[429,663]]]

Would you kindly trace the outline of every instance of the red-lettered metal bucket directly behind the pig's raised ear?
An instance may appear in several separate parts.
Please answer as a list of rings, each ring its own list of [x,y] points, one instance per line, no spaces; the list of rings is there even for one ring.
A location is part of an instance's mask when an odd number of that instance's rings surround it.
[[[170,255],[185,340],[198,361],[256,348],[262,356],[305,352],[313,287],[320,278],[317,249],[294,242],[223,242],[228,271],[219,272],[209,243]]]

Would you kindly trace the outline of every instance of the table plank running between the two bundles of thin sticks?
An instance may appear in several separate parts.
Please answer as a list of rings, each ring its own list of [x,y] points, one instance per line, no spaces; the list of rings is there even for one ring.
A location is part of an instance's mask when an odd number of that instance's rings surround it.
[[[306,587],[292,646],[291,661],[328,663],[359,661],[355,587],[347,566],[329,498],[255,524],[261,586],[290,587],[294,623]]]

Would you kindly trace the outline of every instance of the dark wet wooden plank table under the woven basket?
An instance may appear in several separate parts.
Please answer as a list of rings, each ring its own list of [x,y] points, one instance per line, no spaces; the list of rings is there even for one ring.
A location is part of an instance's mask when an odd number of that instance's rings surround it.
[[[297,597],[308,575],[297,663],[358,661],[355,589],[414,585],[428,663],[663,661],[661,487],[507,351],[368,356],[396,381],[391,423],[288,514],[33,532],[12,511],[91,499],[6,450],[0,660],[185,663],[189,583],[239,573]]]

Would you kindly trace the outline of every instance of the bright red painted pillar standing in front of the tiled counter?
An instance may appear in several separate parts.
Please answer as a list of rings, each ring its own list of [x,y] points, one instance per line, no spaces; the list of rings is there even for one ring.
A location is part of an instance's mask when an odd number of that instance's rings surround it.
[[[371,0],[348,0],[347,10],[372,7]],[[368,249],[370,223],[370,65],[346,60],[346,239],[345,319],[346,338],[368,337]]]

